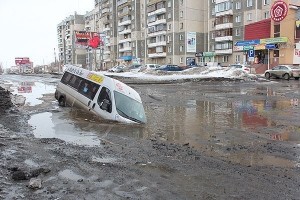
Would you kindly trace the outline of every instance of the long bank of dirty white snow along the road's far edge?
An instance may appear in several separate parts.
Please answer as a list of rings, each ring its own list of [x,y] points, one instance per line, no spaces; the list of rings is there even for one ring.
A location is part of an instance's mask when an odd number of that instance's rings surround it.
[[[98,72],[108,76],[135,78],[139,80],[178,80],[194,78],[232,78],[232,79],[257,79],[256,74],[248,74],[239,69],[230,67],[194,67],[178,72],[146,70],[143,72],[113,73]]]

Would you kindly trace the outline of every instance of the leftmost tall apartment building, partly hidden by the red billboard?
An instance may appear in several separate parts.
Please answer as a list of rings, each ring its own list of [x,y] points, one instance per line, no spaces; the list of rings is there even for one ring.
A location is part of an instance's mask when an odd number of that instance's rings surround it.
[[[76,47],[75,30],[84,30],[84,15],[67,17],[57,25],[58,59],[60,64],[75,64],[86,66],[86,49]]]

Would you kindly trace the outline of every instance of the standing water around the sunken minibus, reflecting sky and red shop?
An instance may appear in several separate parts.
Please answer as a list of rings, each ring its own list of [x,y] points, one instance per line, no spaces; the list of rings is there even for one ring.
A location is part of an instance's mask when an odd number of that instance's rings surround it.
[[[38,105],[42,94],[53,94],[53,82],[57,81],[37,77],[10,80],[13,93],[24,95],[27,106]],[[257,145],[272,141],[300,145],[299,81],[131,86],[141,94],[146,125],[106,122],[75,108],[58,107],[53,109],[60,112],[32,115],[29,124],[35,137],[78,145],[101,147],[106,136],[114,134],[189,144],[207,155],[243,165],[300,165],[300,152],[298,161],[255,152]]]

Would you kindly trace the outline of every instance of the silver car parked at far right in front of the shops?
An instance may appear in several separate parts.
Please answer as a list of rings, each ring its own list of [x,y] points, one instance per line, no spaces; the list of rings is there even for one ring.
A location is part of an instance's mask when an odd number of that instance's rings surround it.
[[[292,66],[292,65],[278,65],[273,67],[272,69],[266,70],[265,77],[267,79],[274,77],[274,78],[283,78],[285,80],[289,80],[290,78],[299,80],[300,67]]]

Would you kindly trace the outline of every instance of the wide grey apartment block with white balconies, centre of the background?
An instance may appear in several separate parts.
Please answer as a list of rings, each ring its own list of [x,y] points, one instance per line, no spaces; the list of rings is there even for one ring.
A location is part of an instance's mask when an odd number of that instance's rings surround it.
[[[94,60],[101,69],[120,63],[198,64],[195,54],[208,46],[207,6],[196,0],[95,0],[94,20],[86,25],[95,23],[104,43]]]

